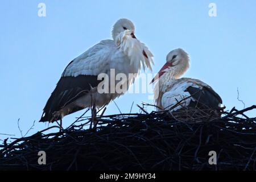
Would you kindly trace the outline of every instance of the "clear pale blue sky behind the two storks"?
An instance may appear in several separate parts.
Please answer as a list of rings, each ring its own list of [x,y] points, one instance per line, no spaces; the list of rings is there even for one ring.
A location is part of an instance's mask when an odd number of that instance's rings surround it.
[[[38,4],[46,4],[46,17]],[[209,3],[217,17],[209,17]],[[174,48],[191,56],[186,77],[211,85],[228,109],[256,104],[256,1],[20,1],[0,2],[0,133],[20,137],[40,118],[66,65],[103,39],[119,18],[131,19],[137,38],[154,53],[154,73]],[[123,113],[133,103],[151,102],[147,94],[116,100]],[[138,112],[133,107],[133,112]],[[113,103],[106,114],[118,113]],[[68,126],[80,113],[64,118]],[[255,116],[254,113],[250,113]],[[35,123],[30,134],[47,127]],[[0,135],[0,139],[5,136]]]

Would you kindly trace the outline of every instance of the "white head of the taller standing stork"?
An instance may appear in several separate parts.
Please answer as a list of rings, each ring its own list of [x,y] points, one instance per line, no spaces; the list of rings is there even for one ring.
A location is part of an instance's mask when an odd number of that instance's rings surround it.
[[[131,36],[136,38],[134,35],[135,27],[133,22],[131,22],[129,19],[126,19],[126,18],[119,19],[117,23],[114,24],[113,30],[112,30],[112,38],[114,39],[114,41],[120,33],[126,30],[130,30]]]

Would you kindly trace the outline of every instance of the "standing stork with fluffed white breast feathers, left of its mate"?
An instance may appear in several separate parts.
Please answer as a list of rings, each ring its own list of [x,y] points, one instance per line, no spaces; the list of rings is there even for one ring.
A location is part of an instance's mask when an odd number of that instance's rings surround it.
[[[119,19],[113,26],[113,40],[102,40],[72,60],[49,97],[40,122],[58,121],[86,107],[100,108],[121,96],[123,93],[117,93],[116,90],[110,93],[98,92],[100,83],[109,85],[109,90],[114,89],[113,83],[109,84],[110,69],[114,69],[114,76],[118,73],[127,76],[121,82],[121,87],[126,86],[127,89],[134,81],[134,77],[128,76],[129,73],[139,73],[141,66],[152,70],[153,55],[135,37],[134,31],[134,24],[130,20]],[[101,73],[106,76],[99,79]]]

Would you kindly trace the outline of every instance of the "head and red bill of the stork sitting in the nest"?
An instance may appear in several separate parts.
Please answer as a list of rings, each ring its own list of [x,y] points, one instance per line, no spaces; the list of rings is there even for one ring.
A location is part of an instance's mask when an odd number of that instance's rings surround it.
[[[158,75],[151,81],[166,75],[168,78],[180,78],[189,68],[189,56],[183,49],[174,49],[168,53],[166,64],[160,69]]]

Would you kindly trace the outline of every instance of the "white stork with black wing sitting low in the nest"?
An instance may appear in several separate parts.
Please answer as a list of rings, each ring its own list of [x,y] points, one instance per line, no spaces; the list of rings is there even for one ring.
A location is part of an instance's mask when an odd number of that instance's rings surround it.
[[[189,68],[189,56],[183,49],[168,53],[167,63],[151,81],[158,110],[176,111],[184,107],[219,110],[221,97],[203,81],[193,78],[180,78]]]

